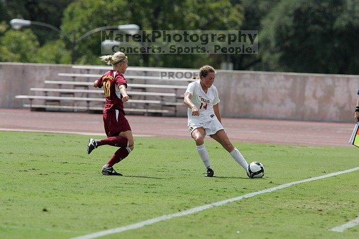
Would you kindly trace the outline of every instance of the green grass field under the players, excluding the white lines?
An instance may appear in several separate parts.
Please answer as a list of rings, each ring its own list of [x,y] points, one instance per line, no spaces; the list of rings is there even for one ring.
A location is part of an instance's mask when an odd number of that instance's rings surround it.
[[[88,136],[0,131],[0,238],[71,238],[359,166],[357,148],[234,143],[265,176],[250,179],[206,141],[215,177],[194,142],[136,137],[103,176],[116,148],[86,154]],[[323,178],[100,238],[359,238],[359,171]]]

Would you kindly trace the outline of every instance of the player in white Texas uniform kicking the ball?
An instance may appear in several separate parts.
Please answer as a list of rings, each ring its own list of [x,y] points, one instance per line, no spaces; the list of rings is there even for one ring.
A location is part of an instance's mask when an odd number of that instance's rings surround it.
[[[246,171],[248,164],[240,151],[229,141],[222,126],[220,98],[213,86],[215,71],[211,66],[203,66],[198,74],[200,80],[188,84],[184,103],[188,107],[188,129],[196,143],[196,149],[207,168],[205,176],[212,177],[214,171],[209,161],[208,151],[204,144],[206,135],[220,143]]]

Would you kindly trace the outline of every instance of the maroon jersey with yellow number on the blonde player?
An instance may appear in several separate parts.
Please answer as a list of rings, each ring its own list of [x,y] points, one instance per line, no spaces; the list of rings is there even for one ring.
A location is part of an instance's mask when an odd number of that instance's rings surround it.
[[[118,87],[123,84],[125,84],[127,88],[127,82],[124,75],[114,70],[106,72],[103,76],[97,79],[97,87],[103,87],[105,92],[106,103],[104,113],[106,113],[108,110],[114,109],[124,111],[122,95],[118,89]]]

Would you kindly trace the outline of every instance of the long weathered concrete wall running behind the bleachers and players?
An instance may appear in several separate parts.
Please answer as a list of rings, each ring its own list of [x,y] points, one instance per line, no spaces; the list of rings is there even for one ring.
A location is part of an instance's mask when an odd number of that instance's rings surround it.
[[[166,70],[170,71],[162,69]],[[45,87],[48,79],[64,80],[57,73],[103,72],[72,69],[70,65],[0,63],[0,107],[22,108],[28,101],[16,99],[15,95],[34,94],[29,89]],[[154,82],[148,82],[151,83]],[[163,84],[178,82],[169,80]],[[353,122],[359,75],[218,70],[214,85],[220,94],[223,117]],[[177,116],[187,115],[185,107],[177,109]]]

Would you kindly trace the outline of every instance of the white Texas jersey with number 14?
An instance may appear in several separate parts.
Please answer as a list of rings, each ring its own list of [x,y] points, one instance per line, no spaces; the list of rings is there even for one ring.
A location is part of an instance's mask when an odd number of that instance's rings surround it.
[[[194,116],[192,109],[188,108],[188,126],[192,123],[205,123],[216,118],[213,106],[220,103],[220,98],[218,98],[218,91],[215,86],[212,85],[205,93],[200,81],[191,82],[188,84],[186,92],[192,94],[191,101],[200,111],[199,116]]]

